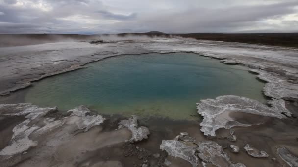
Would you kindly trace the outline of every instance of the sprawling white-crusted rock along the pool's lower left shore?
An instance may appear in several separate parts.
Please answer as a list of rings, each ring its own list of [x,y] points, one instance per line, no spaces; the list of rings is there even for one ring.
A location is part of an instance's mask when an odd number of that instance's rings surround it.
[[[46,116],[58,116],[57,107],[41,108],[31,103],[21,104],[0,104],[0,115],[20,116],[24,115],[26,120],[13,128],[13,136],[10,145],[3,148],[0,155],[13,155],[24,152],[30,147],[36,146],[37,142],[30,140],[28,137],[34,132],[35,135],[41,135],[54,128],[61,127],[64,124],[76,124],[79,130],[87,131],[95,125],[100,125],[105,120],[101,115],[90,115],[90,110],[85,106],[79,106],[73,110],[68,117],[55,120]],[[31,125],[32,121],[43,119],[44,125],[39,127]]]

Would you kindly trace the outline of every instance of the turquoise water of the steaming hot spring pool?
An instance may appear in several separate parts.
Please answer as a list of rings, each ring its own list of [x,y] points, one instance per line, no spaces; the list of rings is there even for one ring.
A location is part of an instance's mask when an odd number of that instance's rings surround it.
[[[197,54],[125,55],[41,80],[26,102],[68,110],[87,105],[104,114],[191,119],[200,99],[240,95],[264,102],[256,76]]]

